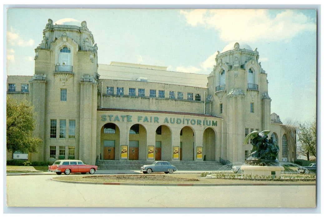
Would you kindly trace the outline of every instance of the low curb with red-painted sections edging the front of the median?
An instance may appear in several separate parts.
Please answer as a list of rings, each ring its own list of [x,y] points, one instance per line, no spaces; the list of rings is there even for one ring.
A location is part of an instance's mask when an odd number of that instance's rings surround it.
[[[56,180],[50,179],[56,182],[65,182],[65,183],[74,183],[74,184],[90,184],[90,185],[133,185],[133,186],[307,186],[307,185],[315,185],[311,183],[293,183],[293,184],[271,184],[271,183],[222,183],[222,184],[192,184],[192,183],[123,183],[123,182],[79,182],[79,181],[64,181],[64,180]]]

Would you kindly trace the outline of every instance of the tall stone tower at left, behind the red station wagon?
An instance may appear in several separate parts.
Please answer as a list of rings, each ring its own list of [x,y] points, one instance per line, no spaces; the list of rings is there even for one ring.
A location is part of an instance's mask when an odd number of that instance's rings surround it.
[[[37,113],[34,131],[43,140],[32,160],[96,160],[97,45],[86,21],[81,27],[53,25],[35,49],[30,101]]]

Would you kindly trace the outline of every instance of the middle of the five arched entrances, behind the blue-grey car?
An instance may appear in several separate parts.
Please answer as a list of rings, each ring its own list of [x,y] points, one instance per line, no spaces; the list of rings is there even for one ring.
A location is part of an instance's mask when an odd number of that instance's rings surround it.
[[[166,125],[160,125],[156,128],[155,134],[155,159],[171,160],[171,131]]]

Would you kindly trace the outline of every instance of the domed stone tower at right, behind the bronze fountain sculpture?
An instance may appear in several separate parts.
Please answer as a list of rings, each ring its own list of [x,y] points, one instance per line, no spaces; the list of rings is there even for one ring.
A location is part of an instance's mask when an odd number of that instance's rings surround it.
[[[242,162],[251,144],[245,135],[254,130],[270,130],[270,103],[267,74],[261,68],[259,52],[237,42],[218,51],[208,77],[213,100],[207,113],[223,117],[221,158]],[[226,146],[227,145],[227,146]]]

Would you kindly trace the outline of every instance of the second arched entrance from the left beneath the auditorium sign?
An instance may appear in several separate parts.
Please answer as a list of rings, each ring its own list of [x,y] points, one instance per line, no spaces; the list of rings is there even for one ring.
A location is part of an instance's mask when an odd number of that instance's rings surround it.
[[[129,129],[129,160],[146,160],[146,129],[143,125],[134,124]]]

